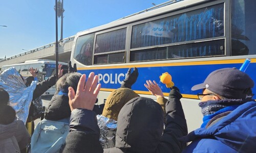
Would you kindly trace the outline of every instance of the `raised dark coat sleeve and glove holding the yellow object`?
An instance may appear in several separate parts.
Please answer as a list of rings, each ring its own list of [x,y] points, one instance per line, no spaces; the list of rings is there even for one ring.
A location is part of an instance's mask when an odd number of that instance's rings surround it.
[[[186,119],[180,102],[181,97],[179,89],[173,87],[165,106],[166,124],[157,152],[181,152],[186,147],[186,143],[178,140],[187,135]]]

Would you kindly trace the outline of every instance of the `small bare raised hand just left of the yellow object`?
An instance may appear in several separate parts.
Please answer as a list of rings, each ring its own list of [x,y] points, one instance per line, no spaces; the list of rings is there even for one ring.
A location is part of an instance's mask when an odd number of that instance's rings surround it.
[[[155,81],[146,81],[146,84],[144,86],[148,89],[148,91],[151,92],[152,95],[158,97],[164,97],[163,92],[161,88],[158,86],[158,84]]]

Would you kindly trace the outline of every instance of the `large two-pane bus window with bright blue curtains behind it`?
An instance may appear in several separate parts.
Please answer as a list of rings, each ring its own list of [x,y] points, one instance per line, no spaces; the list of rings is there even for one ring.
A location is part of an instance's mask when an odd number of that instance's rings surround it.
[[[130,61],[225,55],[224,39],[182,44],[185,41],[223,37],[223,19],[224,5],[218,4],[134,25]],[[164,44],[169,44],[169,46],[158,47]],[[150,46],[156,47],[139,49]]]

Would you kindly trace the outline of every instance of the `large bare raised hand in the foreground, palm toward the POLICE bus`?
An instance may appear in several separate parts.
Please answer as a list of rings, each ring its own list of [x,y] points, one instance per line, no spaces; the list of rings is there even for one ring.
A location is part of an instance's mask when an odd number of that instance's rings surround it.
[[[86,85],[84,86],[85,83]],[[78,82],[76,94],[74,89],[69,87],[69,106],[71,111],[78,108],[93,110],[101,86],[97,83],[98,75],[94,76],[94,72],[91,72],[87,82],[86,74],[82,74]]]

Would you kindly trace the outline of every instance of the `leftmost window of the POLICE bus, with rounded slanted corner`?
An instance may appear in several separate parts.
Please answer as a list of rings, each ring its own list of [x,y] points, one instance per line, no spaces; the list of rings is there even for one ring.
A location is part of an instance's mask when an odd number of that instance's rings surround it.
[[[74,57],[84,65],[92,65],[93,39],[94,34],[89,34],[79,37],[76,41]]]

